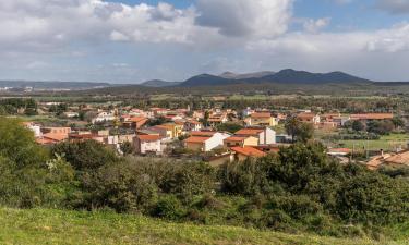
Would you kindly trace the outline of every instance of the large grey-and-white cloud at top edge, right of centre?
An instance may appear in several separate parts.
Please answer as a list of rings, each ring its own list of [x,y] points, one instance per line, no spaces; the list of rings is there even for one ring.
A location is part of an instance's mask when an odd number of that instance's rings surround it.
[[[233,37],[275,37],[287,30],[293,0],[199,0],[196,24]]]

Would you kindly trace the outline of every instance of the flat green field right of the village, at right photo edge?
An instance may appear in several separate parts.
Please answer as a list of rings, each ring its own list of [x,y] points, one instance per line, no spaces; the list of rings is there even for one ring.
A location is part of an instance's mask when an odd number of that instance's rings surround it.
[[[396,147],[406,148],[409,142],[409,134],[390,134],[387,136],[382,136],[377,140],[339,140],[339,144],[342,146],[352,149],[353,147],[357,150],[369,147],[370,150],[396,150]]]

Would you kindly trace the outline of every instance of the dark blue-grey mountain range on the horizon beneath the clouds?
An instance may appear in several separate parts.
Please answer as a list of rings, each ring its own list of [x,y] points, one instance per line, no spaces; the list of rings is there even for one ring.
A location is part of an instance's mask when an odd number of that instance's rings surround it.
[[[305,71],[296,71],[292,69],[281,70],[277,73],[270,71],[236,74],[232,72],[225,72],[220,75],[201,74],[184,82],[165,82],[165,81],[148,81],[142,86],[146,87],[201,87],[201,86],[224,86],[232,84],[348,84],[348,83],[371,83],[372,81],[353,76],[344,72],[329,73],[311,73]]]

